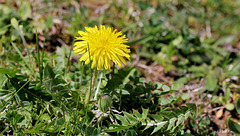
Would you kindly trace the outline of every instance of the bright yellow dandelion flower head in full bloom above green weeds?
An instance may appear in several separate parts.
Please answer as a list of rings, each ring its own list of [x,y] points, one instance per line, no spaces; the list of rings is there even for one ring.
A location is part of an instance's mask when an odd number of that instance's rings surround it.
[[[85,27],[85,30],[85,32],[78,31],[80,36],[76,37],[73,50],[74,53],[83,54],[80,61],[85,61],[85,64],[90,62],[90,58],[92,69],[97,65],[97,70],[101,70],[103,66],[110,70],[111,61],[122,67],[121,62],[126,65],[124,57],[130,60],[129,46],[124,44],[128,39],[121,32],[103,25],[99,28]]]

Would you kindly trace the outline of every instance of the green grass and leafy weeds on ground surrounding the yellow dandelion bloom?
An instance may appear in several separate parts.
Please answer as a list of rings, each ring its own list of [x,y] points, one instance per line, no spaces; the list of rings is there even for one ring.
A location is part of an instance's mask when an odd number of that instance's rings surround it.
[[[228,129],[222,118],[238,134],[239,8],[237,0],[0,4],[0,134],[215,135]],[[128,66],[96,73],[72,53],[77,31],[100,24],[128,37]],[[105,93],[111,110],[102,110]]]

